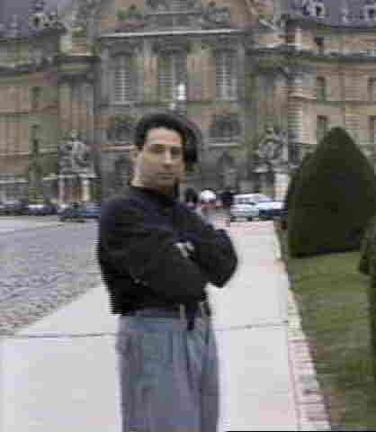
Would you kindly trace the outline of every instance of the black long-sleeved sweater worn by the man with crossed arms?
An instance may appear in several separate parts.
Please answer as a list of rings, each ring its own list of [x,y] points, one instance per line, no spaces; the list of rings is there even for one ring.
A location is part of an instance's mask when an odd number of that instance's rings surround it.
[[[177,247],[190,242],[189,256]],[[188,307],[206,300],[205,285],[226,284],[237,255],[223,229],[162,193],[130,187],[103,204],[97,248],[111,311]]]

